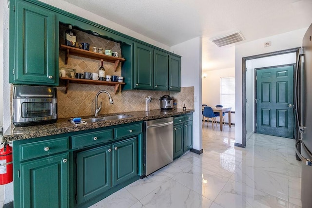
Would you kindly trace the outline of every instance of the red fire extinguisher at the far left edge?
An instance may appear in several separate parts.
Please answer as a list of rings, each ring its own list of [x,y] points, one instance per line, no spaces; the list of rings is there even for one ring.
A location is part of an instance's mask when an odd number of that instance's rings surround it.
[[[0,184],[8,184],[13,181],[12,147],[3,143],[0,147]]]

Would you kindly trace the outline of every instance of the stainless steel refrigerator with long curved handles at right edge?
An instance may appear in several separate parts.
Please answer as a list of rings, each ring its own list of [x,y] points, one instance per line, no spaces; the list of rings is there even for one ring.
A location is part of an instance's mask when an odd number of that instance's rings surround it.
[[[312,208],[312,25],[307,30],[296,70],[296,154],[301,159],[302,208]]]

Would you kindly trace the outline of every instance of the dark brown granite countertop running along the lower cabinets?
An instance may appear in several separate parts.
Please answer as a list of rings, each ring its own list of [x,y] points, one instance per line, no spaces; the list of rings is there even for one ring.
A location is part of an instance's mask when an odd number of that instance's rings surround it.
[[[50,136],[61,133],[68,132],[78,132],[88,129],[97,129],[100,127],[114,126],[118,124],[131,123],[136,121],[145,121],[145,120],[153,120],[158,118],[171,117],[175,115],[181,115],[186,113],[193,113],[194,110],[187,109],[183,111],[182,109],[162,111],[162,110],[152,110],[149,112],[145,111],[137,111],[137,112],[123,112],[123,113],[110,113],[103,114],[97,117],[103,117],[106,115],[116,115],[116,114],[125,114],[132,115],[129,118],[116,119],[116,120],[103,120],[95,123],[87,123],[85,125],[75,125],[70,122],[70,118],[60,118],[54,124],[45,124],[38,126],[28,126],[28,127],[15,127],[13,124],[6,130],[3,134],[3,142],[21,140],[21,139],[29,139],[41,136]],[[94,118],[95,116],[85,116],[83,118]]]

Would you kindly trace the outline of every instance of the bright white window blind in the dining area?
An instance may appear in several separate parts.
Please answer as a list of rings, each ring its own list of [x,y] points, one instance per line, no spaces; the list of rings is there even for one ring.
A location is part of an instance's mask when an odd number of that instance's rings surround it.
[[[235,111],[235,77],[220,78],[220,104]]]

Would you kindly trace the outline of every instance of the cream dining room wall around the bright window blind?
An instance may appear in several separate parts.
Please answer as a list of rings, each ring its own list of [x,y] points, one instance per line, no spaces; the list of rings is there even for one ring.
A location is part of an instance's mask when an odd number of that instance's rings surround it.
[[[235,76],[235,68],[232,67],[219,70],[210,70],[203,72],[203,74],[204,73],[207,74],[207,77],[202,78],[202,104],[214,107],[215,105],[219,105],[221,100],[220,78]],[[225,122],[229,122],[227,113],[223,118]],[[220,121],[219,117],[217,117],[217,121]],[[235,113],[231,113],[231,123],[234,122],[235,122]]]

